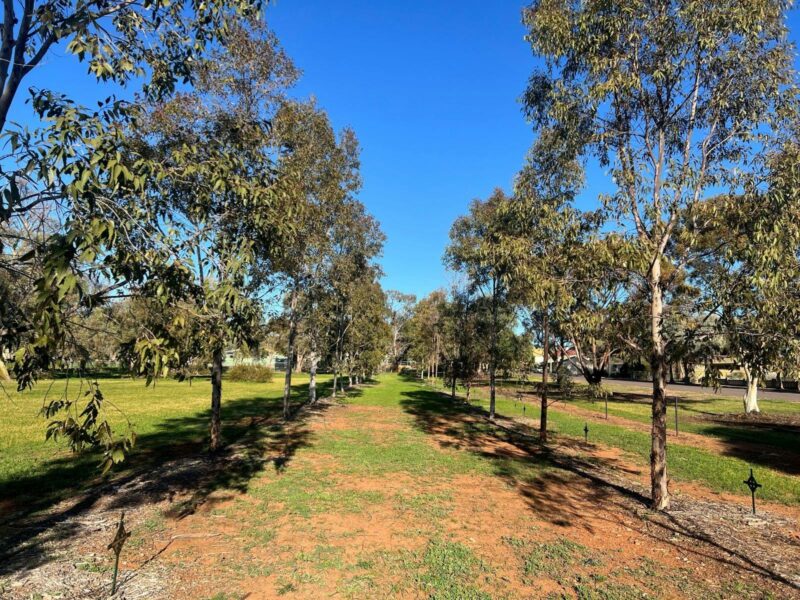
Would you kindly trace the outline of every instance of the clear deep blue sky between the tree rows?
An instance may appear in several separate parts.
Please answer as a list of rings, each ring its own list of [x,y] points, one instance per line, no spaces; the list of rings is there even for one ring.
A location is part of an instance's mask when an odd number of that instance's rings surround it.
[[[337,128],[362,145],[361,199],[387,235],[384,286],[424,295],[446,286],[450,224],[469,202],[511,187],[533,141],[518,98],[536,66],[520,21],[525,0],[277,0],[266,10]],[[792,37],[800,32],[797,11]],[[105,90],[63,49],[25,80],[85,103]],[[127,95],[127,94],[125,94]],[[17,103],[11,117],[26,120]],[[580,205],[608,191],[590,169]]]

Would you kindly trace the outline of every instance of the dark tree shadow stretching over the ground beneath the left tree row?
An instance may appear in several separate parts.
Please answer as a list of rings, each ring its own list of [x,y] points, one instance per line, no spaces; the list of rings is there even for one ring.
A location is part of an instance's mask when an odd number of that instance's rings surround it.
[[[328,382],[318,385],[320,398],[330,391]],[[166,516],[180,519],[246,491],[270,466],[287,469],[295,453],[313,441],[309,419],[330,406],[301,406],[307,394],[308,384],[292,387],[288,421],[279,392],[223,400],[226,445],[213,456],[207,449],[210,411],[204,410],[165,419],[139,436],[135,452],[109,476],[99,476],[98,457],[87,454],[58,458],[29,477],[0,482],[0,498],[13,499],[14,507],[0,521],[0,575],[46,562],[48,546],[77,535],[92,510],[114,511],[116,518],[117,511],[169,501]]]

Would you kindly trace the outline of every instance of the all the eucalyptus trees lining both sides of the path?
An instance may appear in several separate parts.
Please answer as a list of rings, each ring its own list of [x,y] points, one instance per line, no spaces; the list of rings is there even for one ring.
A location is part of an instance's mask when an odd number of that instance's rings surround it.
[[[651,492],[669,506],[666,390],[722,359],[758,411],[770,373],[800,370],[800,116],[786,0],[534,0],[540,68],[523,94],[534,141],[510,193],[452,225],[448,291],[386,292],[384,236],[357,199],[359,145],[314,100],[259,0],[4,0],[0,27],[0,378],[54,371],[46,435],[104,466],[112,431],[98,364],[210,375],[223,443],[227,352],[286,356],[333,392],[412,363],[467,396],[541,368],[589,393],[612,363],[652,377]],[[30,88],[55,54],[97,98]],[[117,95],[108,90],[116,91]],[[19,122],[15,122],[17,119]],[[593,173],[608,193],[590,198]]]

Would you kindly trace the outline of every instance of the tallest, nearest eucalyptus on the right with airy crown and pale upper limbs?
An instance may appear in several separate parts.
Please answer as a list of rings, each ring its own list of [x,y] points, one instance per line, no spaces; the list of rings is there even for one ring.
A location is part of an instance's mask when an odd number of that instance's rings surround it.
[[[665,266],[692,260],[671,243],[687,207],[736,190],[795,109],[785,0],[534,1],[523,14],[543,59],[525,93],[530,119],[616,187],[604,198],[629,237],[629,268],[649,294],[653,371],[652,506],[669,506]],[[678,269],[680,270],[680,269]]]

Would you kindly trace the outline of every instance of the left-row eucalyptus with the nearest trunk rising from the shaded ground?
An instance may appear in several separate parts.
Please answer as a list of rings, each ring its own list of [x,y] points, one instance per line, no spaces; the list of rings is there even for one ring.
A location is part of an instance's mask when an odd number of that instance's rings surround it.
[[[167,202],[163,228],[173,238],[177,264],[191,274],[175,303],[192,322],[211,358],[210,449],[221,440],[225,348],[254,341],[262,294],[276,261],[294,242],[303,204],[291,195],[301,176],[275,156],[272,122],[296,70],[275,37],[258,22],[229,29],[226,46],[196,66],[195,90],[152,107],[133,144],[159,163],[152,189]],[[176,366],[160,349],[169,331],[136,343],[149,376]]]

